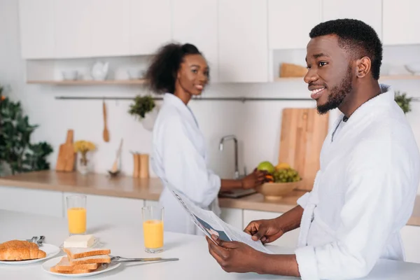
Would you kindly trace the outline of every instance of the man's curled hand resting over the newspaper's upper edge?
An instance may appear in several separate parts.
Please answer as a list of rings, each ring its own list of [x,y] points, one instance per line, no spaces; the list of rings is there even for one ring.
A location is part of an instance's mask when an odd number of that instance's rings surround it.
[[[284,230],[276,219],[252,221],[246,226],[244,232],[252,235],[254,241],[261,240],[262,244],[275,241],[284,234]]]

